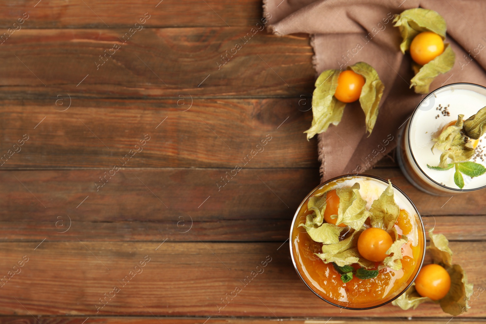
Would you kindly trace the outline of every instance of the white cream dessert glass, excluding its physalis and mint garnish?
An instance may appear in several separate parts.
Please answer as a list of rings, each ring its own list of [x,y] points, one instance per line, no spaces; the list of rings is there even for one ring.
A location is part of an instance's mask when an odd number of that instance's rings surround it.
[[[397,147],[397,160],[407,180],[416,188],[433,195],[449,196],[461,192],[486,188],[486,175],[464,177],[464,187],[454,184],[454,171],[432,170],[427,165],[436,166],[440,151],[432,146],[432,137],[449,123],[457,120],[459,114],[464,119],[476,114],[486,106],[486,88],[470,83],[444,85],[429,93],[418,105],[412,116],[401,129]],[[486,167],[482,149],[486,136],[479,139],[477,156],[471,161]],[[486,145],[486,143],[485,143]]]

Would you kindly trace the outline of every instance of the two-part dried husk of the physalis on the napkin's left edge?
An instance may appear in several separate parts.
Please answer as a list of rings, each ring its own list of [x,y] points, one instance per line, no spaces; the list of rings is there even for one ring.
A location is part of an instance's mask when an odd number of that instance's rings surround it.
[[[359,100],[365,114],[366,131],[371,134],[378,117],[378,105],[382,99],[384,85],[376,70],[367,63],[358,62],[347,68],[364,77],[365,82]],[[308,140],[327,131],[330,124],[338,125],[343,117],[346,103],[334,97],[340,73],[341,70],[325,70],[315,81],[312,94],[312,124],[311,128],[304,132],[307,133]]]

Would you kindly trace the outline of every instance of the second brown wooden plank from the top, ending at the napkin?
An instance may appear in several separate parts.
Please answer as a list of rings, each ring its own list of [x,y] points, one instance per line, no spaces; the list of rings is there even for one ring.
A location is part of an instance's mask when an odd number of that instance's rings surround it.
[[[312,55],[307,34],[249,26],[25,29],[2,44],[0,90],[22,99],[299,97],[313,90]]]

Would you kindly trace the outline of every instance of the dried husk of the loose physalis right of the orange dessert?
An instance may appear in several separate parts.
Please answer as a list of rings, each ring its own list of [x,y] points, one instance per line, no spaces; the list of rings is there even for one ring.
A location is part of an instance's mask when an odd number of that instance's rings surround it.
[[[444,312],[452,316],[460,315],[470,308],[469,299],[472,295],[473,285],[468,283],[468,276],[464,269],[458,264],[452,264],[452,251],[446,237],[442,234],[434,234],[433,230],[429,232],[429,237],[431,245],[427,247],[427,251],[432,253],[433,262],[444,267],[451,276],[451,289],[444,298],[438,300],[438,303]],[[425,302],[432,302],[432,300],[421,297],[412,286],[394,300],[392,305],[401,309],[410,307],[415,309]]]

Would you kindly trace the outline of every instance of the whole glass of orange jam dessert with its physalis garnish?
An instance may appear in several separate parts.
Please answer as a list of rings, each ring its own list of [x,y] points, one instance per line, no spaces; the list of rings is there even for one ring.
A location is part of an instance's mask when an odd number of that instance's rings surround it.
[[[413,283],[425,252],[415,205],[390,181],[343,175],[300,204],[290,251],[306,286],[331,305],[380,307]]]

